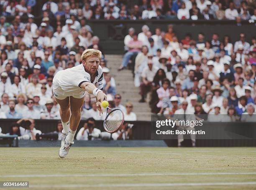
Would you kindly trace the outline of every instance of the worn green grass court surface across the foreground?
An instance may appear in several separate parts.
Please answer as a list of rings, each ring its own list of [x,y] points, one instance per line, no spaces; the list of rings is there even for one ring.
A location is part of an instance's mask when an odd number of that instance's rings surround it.
[[[200,185],[200,183],[256,182],[256,148],[72,147],[68,157],[64,159],[58,157],[58,151],[59,148],[51,147],[0,148],[0,181],[29,181],[30,186],[33,186],[30,189],[51,190],[256,189],[256,184]],[[188,173],[190,175],[181,175]],[[220,173],[227,174],[220,175]],[[239,174],[232,175],[234,173]],[[78,174],[80,176],[74,176]],[[104,174],[110,174],[110,176],[97,176]],[[126,176],[118,174],[126,174]],[[29,175],[29,177],[8,177],[7,175]],[[48,177],[47,175],[70,176]],[[184,186],[138,186],[140,183],[157,185],[184,183]],[[187,183],[199,184],[189,186]],[[107,187],[113,184],[136,184],[137,186]],[[44,188],[36,188],[38,187],[36,185]],[[65,186],[60,188],[59,185],[102,185],[102,187],[67,188]]]

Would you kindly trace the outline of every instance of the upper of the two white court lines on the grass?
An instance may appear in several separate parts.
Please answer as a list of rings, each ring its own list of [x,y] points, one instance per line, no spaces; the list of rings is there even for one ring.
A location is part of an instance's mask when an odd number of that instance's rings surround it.
[[[0,175],[0,178],[48,178],[48,177],[123,177],[123,176],[162,176],[162,175],[256,175],[248,173],[131,173],[131,174],[30,174]]]

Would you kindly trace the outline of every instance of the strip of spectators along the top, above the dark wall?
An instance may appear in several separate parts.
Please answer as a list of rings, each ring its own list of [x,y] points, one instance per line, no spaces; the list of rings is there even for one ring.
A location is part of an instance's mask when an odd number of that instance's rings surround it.
[[[1,0],[1,15],[31,17],[34,0]],[[43,15],[56,20],[255,20],[253,0],[49,0],[44,3]],[[38,15],[37,15],[38,16]],[[54,19],[53,19],[54,18]],[[47,19],[44,22],[49,22]],[[78,22],[77,22],[78,23]],[[77,24],[75,24],[78,27]],[[36,27],[35,25],[33,28]],[[47,26],[47,28],[51,28]]]

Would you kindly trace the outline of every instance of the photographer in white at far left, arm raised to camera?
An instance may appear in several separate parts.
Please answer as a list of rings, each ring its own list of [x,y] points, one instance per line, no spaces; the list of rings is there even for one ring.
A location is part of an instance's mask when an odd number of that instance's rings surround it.
[[[36,140],[36,134],[42,134],[40,130],[36,130],[35,121],[33,119],[20,119],[17,121],[20,126],[20,138],[24,140]]]

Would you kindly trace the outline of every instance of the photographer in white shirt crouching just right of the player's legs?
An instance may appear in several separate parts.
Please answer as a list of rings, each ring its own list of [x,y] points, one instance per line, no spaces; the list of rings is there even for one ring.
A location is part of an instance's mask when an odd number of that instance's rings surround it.
[[[95,128],[95,119],[90,117],[77,133],[77,140],[100,140],[101,131]]]

